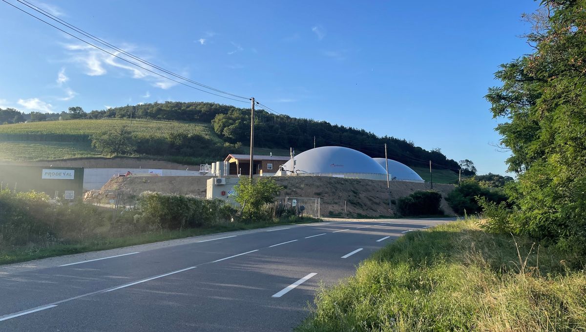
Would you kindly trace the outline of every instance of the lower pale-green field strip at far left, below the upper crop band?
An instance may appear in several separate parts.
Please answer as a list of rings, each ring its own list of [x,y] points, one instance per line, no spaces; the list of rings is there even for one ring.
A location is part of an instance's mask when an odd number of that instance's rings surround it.
[[[0,160],[54,160],[100,156],[89,142],[0,142]]]

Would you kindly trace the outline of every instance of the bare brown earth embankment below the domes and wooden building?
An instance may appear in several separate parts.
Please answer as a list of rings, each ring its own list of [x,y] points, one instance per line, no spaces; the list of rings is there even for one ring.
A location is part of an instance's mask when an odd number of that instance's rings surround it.
[[[143,191],[159,191],[168,194],[190,194],[206,197],[208,176],[163,176],[163,177],[118,177],[110,180],[102,190],[119,190],[125,196],[138,196]],[[277,183],[285,187],[280,196],[315,197],[322,199],[323,213],[327,214],[328,204],[336,208],[336,214],[346,211],[349,215],[379,217],[397,214],[397,198],[407,196],[417,190],[429,190],[428,183],[403,181],[390,182],[390,197],[386,181],[366,179],[342,179],[325,176],[289,176],[274,177]],[[434,190],[444,197],[454,190],[452,184],[434,184]],[[389,201],[391,204],[389,205]],[[340,208],[341,207],[341,208]],[[454,215],[454,211],[442,199],[441,208],[445,214]]]

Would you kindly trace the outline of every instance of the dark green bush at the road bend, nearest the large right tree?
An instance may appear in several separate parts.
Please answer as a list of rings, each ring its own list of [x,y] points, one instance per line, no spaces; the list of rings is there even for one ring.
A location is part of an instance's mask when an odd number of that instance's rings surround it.
[[[476,197],[484,197],[487,201],[492,201],[497,204],[507,200],[507,196],[501,190],[490,190],[481,187],[473,179],[462,181],[455,190],[452,190],[448,194],[445,200],[456,214],[476,214],[482,212],[482,207],[479,206]]]

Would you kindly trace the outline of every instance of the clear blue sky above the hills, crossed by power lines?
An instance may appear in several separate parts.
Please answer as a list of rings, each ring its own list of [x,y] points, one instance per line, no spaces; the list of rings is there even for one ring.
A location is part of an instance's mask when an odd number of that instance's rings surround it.
[[[6,0],[18,4],[16,0]],[[30,0],[32,2],[32,0]],[[530,52],[538,3],[491,1],[33,2],[152,63],[275,111],[364,128],[506,169],[487,88]],[[138,102],[246,107],[137,70],[0,2],[0,107],[86,111]]]

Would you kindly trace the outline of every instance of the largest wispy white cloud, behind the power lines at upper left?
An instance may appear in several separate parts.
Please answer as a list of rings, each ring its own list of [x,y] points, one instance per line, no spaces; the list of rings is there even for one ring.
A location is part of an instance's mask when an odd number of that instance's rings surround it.
[[[121,69],[122,73],[129,73],[131,74],[132,78],[147,80],[154,87],[168,89],[178,84],[164,77],[151,73],[148,70],[133,66],[131,63],[145,67],[149,70],[155,70],[148,67],[144,63],[139,63],[139,61],[135,59],[124,56],[124,54],[120,52],[112,52],[114,54],[113,56],[111,54],[94,49],[94,47],[89,45],[65,44],[63,46],[66,50],[70,51],[69,60],[81,64],[81,66],[84,67],[84,73],[89,76],[102,76],[107,74],[108,70]],[[137,53],[137,47],[133,45],[126,44],[122,45],[121,48],[126,52],[133,52],[135,54]],[[122,57],[123,59],[130,61],[130,63],[118,59],[118,57]],[[141,56],[141,58],[149,59],[150,56]],[[118,72],[120,72],[120,70],[118,70]],[[187,75],[187,73],[182,74],[182,76]]]

